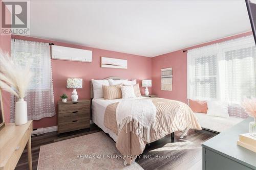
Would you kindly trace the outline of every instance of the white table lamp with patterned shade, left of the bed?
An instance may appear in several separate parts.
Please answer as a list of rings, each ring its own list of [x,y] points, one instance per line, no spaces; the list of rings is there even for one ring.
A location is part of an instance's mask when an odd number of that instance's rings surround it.
[[[73,88],[74,89],[72,91],[71,100],[72,101],[77,101],[78,95],[77,95],[76,88],[82,88],[82,79],[68,78],[67,79],[67,88]]]

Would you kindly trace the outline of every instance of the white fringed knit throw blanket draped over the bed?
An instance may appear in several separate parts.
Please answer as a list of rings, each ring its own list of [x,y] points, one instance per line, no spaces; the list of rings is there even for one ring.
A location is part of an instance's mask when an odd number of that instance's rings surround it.
[[[121,100],[116,108],[118,133],[130,123],[130,132],[150,142],[151,127],[155,128],[157,109],[150,99]]]

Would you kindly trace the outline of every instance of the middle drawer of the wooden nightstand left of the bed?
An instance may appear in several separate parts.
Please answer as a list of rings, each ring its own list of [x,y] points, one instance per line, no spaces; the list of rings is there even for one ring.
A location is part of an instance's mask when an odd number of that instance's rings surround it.
[[[80,120],[80,119],[90,120],[90,110],[59,113],[58,118],[59,118],[59,123],[65,123],[65,122],[70,122],[73,120]]]

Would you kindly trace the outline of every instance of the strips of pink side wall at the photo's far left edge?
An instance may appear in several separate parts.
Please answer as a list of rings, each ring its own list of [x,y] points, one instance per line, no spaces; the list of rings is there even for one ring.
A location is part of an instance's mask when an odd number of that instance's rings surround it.
[[[2,9],[2,1],[0,1],[1,9]],[[8,11],[8,9],[6,8]],[[7,19],[11,19],[11,13],[7,12]],[[2,21],[2,20],[1,20]],[[11,36],[10,35],[2,35],[0,34],[0,48],[5,53],[11,52]],[[3,107],[4,107],[4,115],[5,115],[5,122],[10,122],[10,93],[1,90],[2,98],[3,98]]]

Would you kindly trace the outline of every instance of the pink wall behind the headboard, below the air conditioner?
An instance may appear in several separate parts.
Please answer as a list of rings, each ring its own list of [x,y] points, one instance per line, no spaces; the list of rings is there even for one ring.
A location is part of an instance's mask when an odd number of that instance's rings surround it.
[[[63,61],[52,60],[52,76],[53,76],[53,90],[54,101],[57,111],[57,101],[60,100],[59,96],[62,93],[71,96],[73,89],[66,89],[67,78],[82,78],[83,88],[77,89],[80,99],[90,99],[90,80],[91,79],[103,79],[110,76],[118,76],[126,79],[137,79],[137,83],[141,86],[141,80],[151,79],[151,58],[136,56],[131,54],[118,53],[108,50],[101,50],[98,48],[91,48],[86,46],[62,43],[57,41],[50,41],[32,37],[24,36],[12,36],[12,38],[38,41],[38,42],[50,42],[55,45],[68,46],[81,48],[85,50],[91,50],[93,52],[93,59],[91,63],[75,62],[75,61]],[[113,68],[101,68],[100,57],[113,57],[120,59],[127,59],[128,69],[113,69]],[[144,88],[141,89],[141,92]],[[144,92],[143,92],[144,93]],[[70,99],[70,98],[69,98]],[[33,128],[39,127],[51,127],[57,125],[57,116],[43,118],[41,120],[34,120]]]

